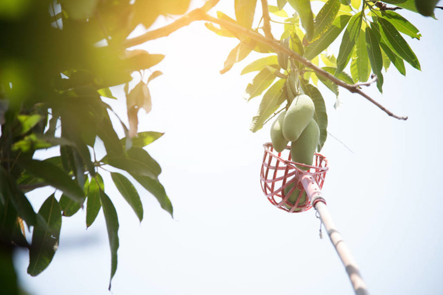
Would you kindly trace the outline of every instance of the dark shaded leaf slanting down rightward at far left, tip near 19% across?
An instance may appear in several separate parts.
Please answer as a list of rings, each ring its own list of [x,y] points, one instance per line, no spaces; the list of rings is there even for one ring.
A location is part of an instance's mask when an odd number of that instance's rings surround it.
[[[64,192],[76,202],[83,202],[83,190],[62,169],[49,161],[21,160],[19,164],[30,174],[43,179],[47,184]]]

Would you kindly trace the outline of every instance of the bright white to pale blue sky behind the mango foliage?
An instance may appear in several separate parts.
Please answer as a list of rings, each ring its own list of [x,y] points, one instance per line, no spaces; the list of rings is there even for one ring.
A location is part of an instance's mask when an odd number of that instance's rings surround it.
[[[233,1],[222,2],[218,10],[233,16]],[[393,119],[344,89],[342,107],[334,110],[334,95],[320,86],[328,131],[347,146],[328,136],[322,153],[330,171],[323,194],[371,294],[440,294],[442,25],[401,14],[423,35],[420,41],[408,40],[422,72],[407,65],[403,77],[391,65],[383,95],[375,85],[364,90],[409,119]],[[442,18],[443,12],[436,15]],[[120,221],[112,293],[107,290],[110,252],[104,218],[99,214],[85,230],[83,211],[63,218],[58,251],[42,274],[26,274],[27,252],[16,256],[19,278],[31,294],[353,294],[324,231],[319,239],[315,210],[285,213],[261,191],[262,144],[270,141],[270,124],[255,134],[249,131],[260,98],[246,103],[242,97],[254,73],[239,75],[261,56],[220,75],[236,45],[203,23],[147,44],[150,53],[166,58],[155,67],[164,75],[149,84],[153,106],[148,115],[140,111],[140,130],[165,132],[147,150],[162,166],[159,179],[174,218],[143,193],[140,224],[105,179]],[[123,97],[121,89],[114,95]],[[34,208],[49,194],[34,194]]]

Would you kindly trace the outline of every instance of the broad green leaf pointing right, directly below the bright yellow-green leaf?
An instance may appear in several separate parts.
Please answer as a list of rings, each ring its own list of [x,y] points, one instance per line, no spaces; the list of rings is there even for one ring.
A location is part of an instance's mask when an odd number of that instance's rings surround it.
[[[147,151],[139,147],[129,149],[127,157],[123,155],[114,157],[106,156],[101,161],[130,174],[148,176],[155,180],[161,172],[160,165]]]

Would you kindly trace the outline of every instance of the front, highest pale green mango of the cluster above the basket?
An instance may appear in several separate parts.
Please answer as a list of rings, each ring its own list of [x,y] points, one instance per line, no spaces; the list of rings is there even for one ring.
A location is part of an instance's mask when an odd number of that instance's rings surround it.
[[[283,136],[296,141],[314,115],[315,107],[311,97],[302,94],[292,100],[283,120]]]

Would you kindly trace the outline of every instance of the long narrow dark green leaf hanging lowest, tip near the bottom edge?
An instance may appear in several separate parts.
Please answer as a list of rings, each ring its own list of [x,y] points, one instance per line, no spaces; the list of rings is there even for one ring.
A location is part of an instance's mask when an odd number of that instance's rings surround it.
[[[118,241],[118,217],[117,211],[108,195],[100,190],[100,203],[103,207],[103,215],[105,215],[106,229],[108,230],[109,247],[111,248],[111,277],[109,279],[109,290],[111,290],[111,281],[117,271],[117,250]]]

